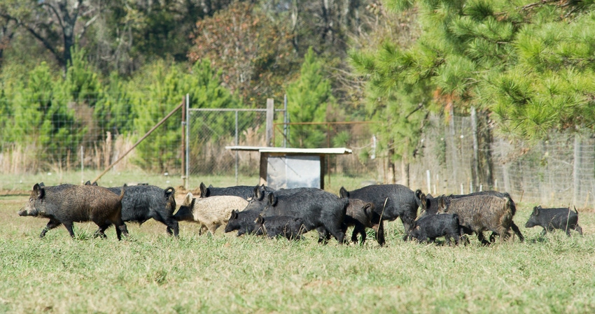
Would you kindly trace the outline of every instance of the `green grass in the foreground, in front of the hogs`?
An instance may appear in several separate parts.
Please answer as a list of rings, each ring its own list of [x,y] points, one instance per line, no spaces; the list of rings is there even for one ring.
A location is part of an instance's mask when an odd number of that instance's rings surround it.
[[[127,241],[86,223],[40,240],[47,221],[16,215],[26,200],[0,198],[0,313],[595,313],[594,213],[580,213],[582,237],[541,237],[519,204],[526,242],[491,247],[404,243],[397,220],[379,248],[186,223],[175,239],[152,221]]]

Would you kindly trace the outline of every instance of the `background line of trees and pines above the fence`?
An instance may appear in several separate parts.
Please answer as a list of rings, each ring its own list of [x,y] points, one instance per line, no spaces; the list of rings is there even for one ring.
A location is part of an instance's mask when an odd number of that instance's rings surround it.
[[[475,115],[490,131],[475,182],[490,185],[491,132],[593,129],[594,25],[593,1],[0,0],[3,143],[50,148],[56,134],[72,143],[51,150],[61,159],[81,137],[144,133],[186,92],[213,108],[287,94],[291,122],[379,122],[402,173],[429,113]],[[139,151],[178,136],[171,123]]]

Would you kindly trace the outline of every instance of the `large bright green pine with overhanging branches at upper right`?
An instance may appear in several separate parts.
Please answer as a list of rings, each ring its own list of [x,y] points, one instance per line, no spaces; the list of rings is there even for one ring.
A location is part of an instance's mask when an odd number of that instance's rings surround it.
[[[479,112],[508,134],[541,138],[551,129],[594,127],[591,82],[595,32],[591,3],[570,1],[395,0],[389,10],[415,8],[423,33],[409,47],[385,45],[353,53],[370,85],[389,95],[422,91],[447,110]],[[434,97],[438,95],[438,97]],[[446,101],[444,101],[446,100]],[[496,113],[492,115],[491,113]],[[479,132],[478,132],[479,134]],[[489,148],[489,133],[479,145]],[[481,140],[481,139],[480,139]],[[479,149],[479,152],[489,152]],[[475,173],[490,185],[489,155]],[[477,171],[475,171],[477,172]],[[479,179],[481,180],[481,179]],[[474,183],[479,184],[478,180]]]

